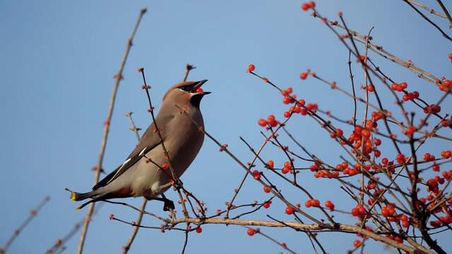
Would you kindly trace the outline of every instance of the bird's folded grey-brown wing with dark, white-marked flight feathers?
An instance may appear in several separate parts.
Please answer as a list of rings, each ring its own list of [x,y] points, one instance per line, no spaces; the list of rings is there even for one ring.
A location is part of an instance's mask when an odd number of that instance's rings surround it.
[[[174,119],[174,115],[167,116],[157,116],[155,121],[157,122],[157,126],[162,128],[162,126],[167,126],[167,122]],[[161,126],[162,125],[162,126]],[[146,153],[150,150],[153,150],[155,147],[160,145],[161,140],[157,133],[154,131],[155,126],[154,123],[151,123],[148,129],[145,131],[143,136],[141,137],[140,142],[136,145],[135,149],[131,152],[129,157],[127,157],[126,161],[117,169],[114,169],[110,174],[105,176],[104,179],[99,181],[94,187],[93,190],[106,186],[108,183],[112,182],[114,179],[117,179],[121,174],[123,174],[127,169],[136,164]],[[162,138],[165,140],[165,131],[162,132]]]

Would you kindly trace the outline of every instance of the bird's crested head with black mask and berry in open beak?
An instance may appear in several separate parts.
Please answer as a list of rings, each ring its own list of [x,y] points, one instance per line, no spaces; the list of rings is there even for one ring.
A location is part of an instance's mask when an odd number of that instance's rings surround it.
[[[180,107],[192,106],[199,108],[201,99],[204,95],[210,94],[210,92],[204,92],[201,86],[206,83],[207,80],[182,82],[169,88],[165,96],[163,97],[163,103],[171,103],[174,107],[178,105]]]

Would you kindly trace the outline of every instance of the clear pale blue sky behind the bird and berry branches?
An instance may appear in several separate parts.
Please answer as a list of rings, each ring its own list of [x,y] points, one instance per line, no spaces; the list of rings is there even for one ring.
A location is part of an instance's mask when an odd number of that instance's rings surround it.
[[[434,1],[421,2],[440,10]],[[451,11],[452,3],[443,2]],[[186,63],[194,64],[197,68],[190,73],[189,80],[208,79],[203,88],[213,92],[201,102],[206,130],[220,143],[227,143],[243,162],[251,160],[252,155],[239,135],[258,148],[263,143],[258,132],[263,128],[257,125],[257,120],[269,114],[283,119],[287,110],[278,91],[246,73],[250,63],[256,66],[256,73],[280,87],[292,87],[299,98],[316,102],[321,109],[331,110],[342,119],[351,119],[349,98],[312,78],[299,79],[299,74],[310,68],[321,77],[350,88],[347,49],[319,19],[309,15],[310,11],[302,11],[302,3],[0,1],[0,246],[46,195],[51,200],[21,232],[8,253],[44,253],[85,216],[85,209],[74,211],[78,205],[71,203],[64,188],[88,191],[93,186],[94,174],[90,169],[97,163],[114,84],[112,76],[118,71],[141,8],[148,8],[148,13],[143,16],[133,40],[124,68],[125,79],[119,86],[103,164],[106,171],[121,164],[136,145],[136,137],[129,131],[129,119],[124,114],[133,111],[133,119],[140,128],[147,128],[150,123],[141,75],[136,71],[140,67],[145,68],[148,84],[153,87],[153,102],[159,109],[162,95],[182,80]],[[451,42],[403,1],[319,0],[316,4],[323,16],[333,20],[338,19],[338,11],[343,11],[349,28],[361,35],[374,27],[373,42],[400,59],[411,59],[437,77],[451,78],[448,59]],[[446,19],[429,17],[451,35]],[[429,102],[434,103],[441,96],[436,87],[405,68],[375,54],[369,56],[384,73],[397,82],[407,82],[408,90],[420,91]],[[359,87],[363,83],[362,71],[354,60],[352,68]],[[392,97],[383,100],[392,107]],[[442,112],[451,113],[450,97],[441,106]],[[358,119],[362,119],[362,110]],[[338,126],[350,134],[350,128]],[[312,153],[331,164],[337,164],[339,156],[345,155],[335,147],[328,133],[308,117],[297,116],[290,122],[289,130]],[[444,135],[450,137],[450,130]],[[428,152],[437,157],[441,150],[451,148],[450,143],[433,142],[436,148]],[[293,143],[288,144],[295,148]],[[396,156],[389,147],[382,152],[382,157]],[[263,155],[278,165],[285,162],[278,150],[268,149]],[[306,162],[297,163],[299,167],[309,167]],[[263,170],[262,165],[258,164],[258,170]],[[206,202],[208,214],[215,214],[225,207],[224,202],[230,200],[243,175],[244,170],[224,152],[218,152],[218,147],[206,138],[182,181]],[[302,184],[321,202],[332,200],[338,209],[347,211],[355,206],[345,193],[338,192],[332,181],[316,180],[310,173],[300,176],[304,180]],[[295,203],[307,200],[302,193],[285,191],[285,195]],[[167,197],[177,200],[173,191],[168,191]],[[263,193],[261,186],[248,179],[237,203],[261,202],[265,198],[268,194]],[[126,201],[139,206],[141,200]],[[167,216],[161,208],[160,202],[150,202],[147,207]],[[266,219],[266,214],[282,220],[292,219],[284,214],[284,209],[280,201],[275,201],[268,210],[242,219]],[[180,210],[177,205],[179,217]],[[314,210],[309,212],[316,214]],[[126,207],[103,205],[90,224],[85,253],[120,253],[126,244],[133,228],[110,221],[109,214],[126,221],[136,220],[137,216]],[[350,216],[337,216],[355,223]],[[160,222],[148,217],[143,224],[160,226]],[[263,229],[263,232],[287,243],[297,253],[314,252],[302,233],[291,229]],[[66,243],[67,253],[75,253],[79,235]],[[319,235],[319,241],[329,253],[345,253],[356,238],[354,234]],[[180,231],[162,234],[142,229],[130,253],[180,253],[183,241],[184,234]],[[444,238],[440,241],[446,251],[452,252],[450,238],[447,242]],[[388,251],[380,243],[369,243],[369,247],[365,253]],[[262,236],[247,236],[246,229],[240,226],[224,225],[205,225],[202,234],[190,234],[186,249],[186,253],[279,251],[286,253]]]

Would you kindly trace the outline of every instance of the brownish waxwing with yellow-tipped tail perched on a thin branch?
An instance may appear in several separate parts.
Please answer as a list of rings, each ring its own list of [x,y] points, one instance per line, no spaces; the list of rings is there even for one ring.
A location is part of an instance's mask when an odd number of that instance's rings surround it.
[[[168,164],[162,141],[174,174],[179,179],[203,145],[204,133],[200,128],[204,127],[204,121],[199,106],[204,95],[210,94],[201,89],[206,81],[182,82],[169,88],[155,117],[162,138],[158,135],[155,124],[151,123],[124,163],[96,183],[93,191],[71,191],[71,200],[74,202],[91,198],[76,210],[91,202],[140,196],[148,200],[164,201],[164,210],[174,209],[174,203],[163,194],[172,186],[172,177],[171,171],[165,169]],[[189,117],[181,114],[181,109]],[[66,190],[69,191],[67,188]],[[162,198],[157,198],[158,195],[162,195]]]

